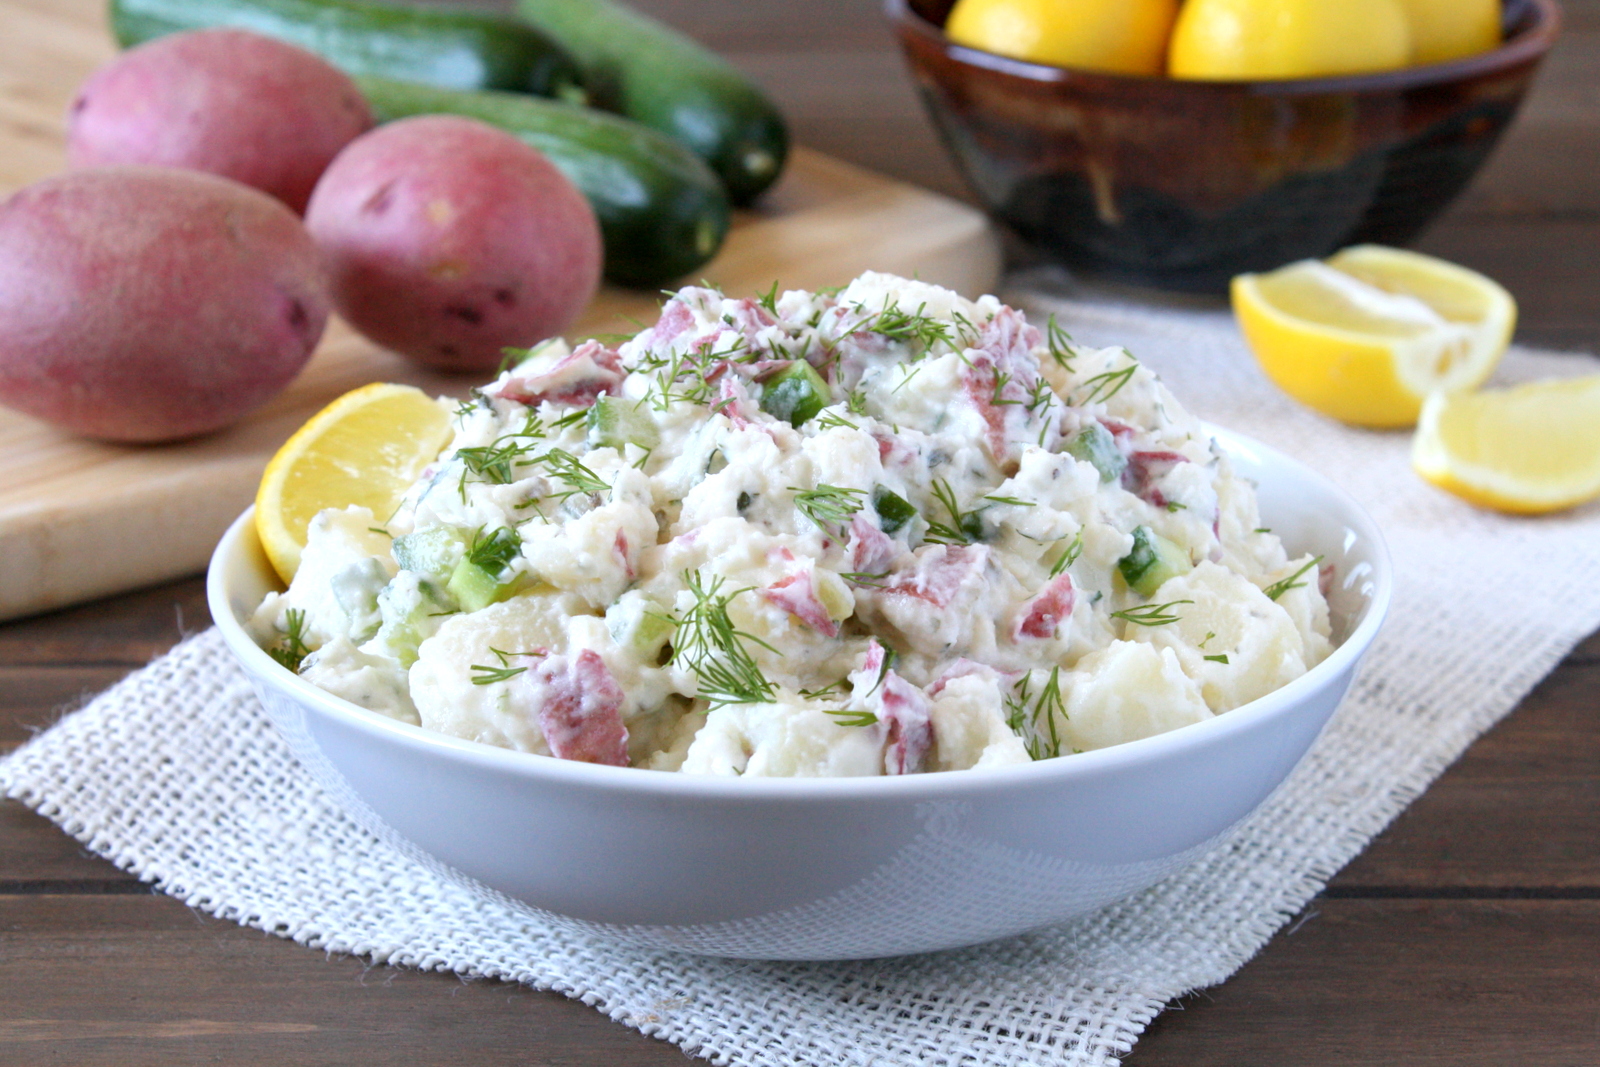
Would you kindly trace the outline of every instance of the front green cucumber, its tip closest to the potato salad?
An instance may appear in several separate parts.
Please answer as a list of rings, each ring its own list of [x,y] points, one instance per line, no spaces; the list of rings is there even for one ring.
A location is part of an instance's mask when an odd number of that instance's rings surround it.
[[[578,186],[600,219],[605,274],[618,285],[658,288],[704,266],[728,234],[717,176],[682,144],[589,107],[520,93],[456,93],[358,77],[379,122],[464,115],[533,146]]]

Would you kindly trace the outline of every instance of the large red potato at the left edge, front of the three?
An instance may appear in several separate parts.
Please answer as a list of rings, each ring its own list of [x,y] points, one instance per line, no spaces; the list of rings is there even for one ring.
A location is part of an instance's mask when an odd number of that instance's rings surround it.
[[[0,403],[77,434],[229,426],[299,373],[326,322],[310,235],[248,186],[109,166],[0,203]]]

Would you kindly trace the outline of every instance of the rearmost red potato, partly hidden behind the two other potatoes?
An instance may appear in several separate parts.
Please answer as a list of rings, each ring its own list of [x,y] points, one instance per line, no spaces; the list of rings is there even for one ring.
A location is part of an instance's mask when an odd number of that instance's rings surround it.
[[[371,126],[355,82],[322,58],[205,29],[158,37],[91,75],[72,101],[67,165],[206,171],[304,213],[322,171]]]

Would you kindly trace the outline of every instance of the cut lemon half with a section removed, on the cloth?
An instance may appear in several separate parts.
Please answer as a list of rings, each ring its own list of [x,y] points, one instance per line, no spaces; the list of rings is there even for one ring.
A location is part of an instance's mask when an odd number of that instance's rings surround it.
[[[1482,274],[1358,245],[1234,278],[1234,314],[1286,394],[1344,422],[1416,424],[1432,392],[1482,386],[1517,325],[1517,302]]]

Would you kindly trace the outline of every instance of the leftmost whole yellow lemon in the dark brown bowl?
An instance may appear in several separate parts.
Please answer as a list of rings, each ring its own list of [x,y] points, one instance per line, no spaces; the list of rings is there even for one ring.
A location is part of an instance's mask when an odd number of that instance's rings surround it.
[[[1178,0],[958,0],[957,45],[1054,67],[1162,74]]]

